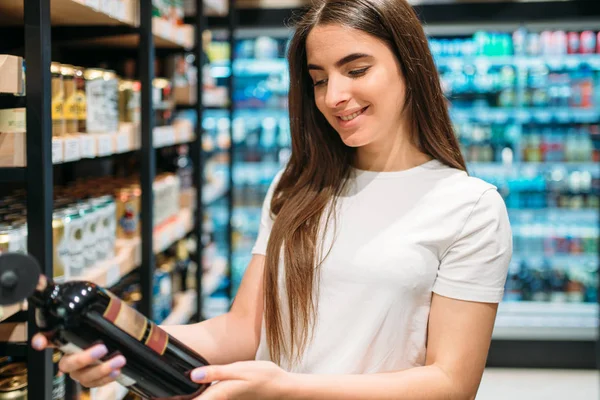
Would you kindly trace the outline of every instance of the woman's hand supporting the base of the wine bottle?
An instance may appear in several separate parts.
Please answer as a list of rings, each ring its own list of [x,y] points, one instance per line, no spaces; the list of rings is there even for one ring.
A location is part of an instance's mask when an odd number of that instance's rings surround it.
[[[192,371],[192,380],[210,383],[197,400],[275,400],[285,398],[289,374],[268,361],[211,365]]]

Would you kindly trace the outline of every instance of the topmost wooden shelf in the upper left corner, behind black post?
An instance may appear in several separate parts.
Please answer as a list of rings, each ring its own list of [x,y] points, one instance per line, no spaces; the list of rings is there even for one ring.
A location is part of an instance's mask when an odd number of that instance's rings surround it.
[[[23,24],[23,0],[0,1],[0,23]],[[137,4],[130,0],[52,0],[50,18],[53,25],[135,25]]]

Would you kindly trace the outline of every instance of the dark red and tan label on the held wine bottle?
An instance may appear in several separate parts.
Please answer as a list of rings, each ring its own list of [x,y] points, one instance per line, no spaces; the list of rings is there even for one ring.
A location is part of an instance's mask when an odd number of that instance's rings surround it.
[[[104,311],[103,317],[132,337],[143,342],[156,353],[160,355],[165,354],[169,343],[169,335],[156,326],[155,323],[146,319],[142,314],[127,304],[123,304],[121,299],[108,291],[106,293],[110,295],[110,302],[108,303],[108,307],[106,307],[106,311]],[[147,330],[149,333],[144,340],[144,334]]]

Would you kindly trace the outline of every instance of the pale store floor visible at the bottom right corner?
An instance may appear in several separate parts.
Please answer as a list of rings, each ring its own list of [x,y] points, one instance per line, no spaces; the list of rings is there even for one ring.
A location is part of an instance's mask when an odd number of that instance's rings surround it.
[[[488,368],[477,400],[599,400],[600,373]]]

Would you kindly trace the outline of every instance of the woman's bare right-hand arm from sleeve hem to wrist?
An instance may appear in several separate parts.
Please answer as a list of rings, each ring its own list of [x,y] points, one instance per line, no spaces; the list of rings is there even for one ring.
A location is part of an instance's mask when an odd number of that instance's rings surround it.
[[[280,386],[289,400],[472,400],[492,336],[497,304],[433,294],[426,365],[372,375],[289,374]]]

